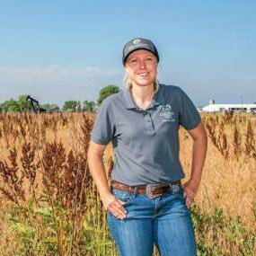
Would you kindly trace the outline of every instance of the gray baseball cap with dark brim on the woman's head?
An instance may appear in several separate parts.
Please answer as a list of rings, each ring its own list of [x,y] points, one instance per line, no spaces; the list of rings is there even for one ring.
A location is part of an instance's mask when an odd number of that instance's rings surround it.
[[[154,54],[159,61],[159,55],[157,49],[154,46],[154,43],[151,40],[146,40],[142,38],[135,38],[133,40],[128,41],[123,49],[123,65],[125,65],[128,55],[137,49],[146,49]]]

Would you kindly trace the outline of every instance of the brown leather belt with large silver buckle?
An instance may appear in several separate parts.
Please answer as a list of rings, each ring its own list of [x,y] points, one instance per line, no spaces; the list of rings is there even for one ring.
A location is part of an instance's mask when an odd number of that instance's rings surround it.
[[[177,192],[180,190],[181,181],[172,181],[163,184],[147,184],[142,186],[128,186],[119,181],[110,181],[110,186],[113,189],[125,190],[132,193],[146,194],[150,199],[154,199],[164,193]]]

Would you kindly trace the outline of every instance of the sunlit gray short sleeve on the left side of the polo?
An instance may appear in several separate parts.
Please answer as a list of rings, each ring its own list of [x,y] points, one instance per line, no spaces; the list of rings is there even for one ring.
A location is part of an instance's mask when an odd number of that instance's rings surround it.
[[[91,132],[91,139],[93,142],[102,145],[107,145],[114,137],[114,122],[111,118],[111,108],[109,101],[106,100],[102,102],[102,105],[99,108]]]

